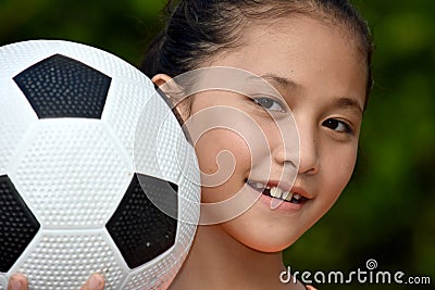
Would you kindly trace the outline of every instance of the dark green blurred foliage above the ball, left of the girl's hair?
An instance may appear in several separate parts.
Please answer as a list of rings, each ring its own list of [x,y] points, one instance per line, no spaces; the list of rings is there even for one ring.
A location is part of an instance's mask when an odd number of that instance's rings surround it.
[[[164,0],[0,0],[0,46],[63,39],[109,51],[137,65],[160,28]]]

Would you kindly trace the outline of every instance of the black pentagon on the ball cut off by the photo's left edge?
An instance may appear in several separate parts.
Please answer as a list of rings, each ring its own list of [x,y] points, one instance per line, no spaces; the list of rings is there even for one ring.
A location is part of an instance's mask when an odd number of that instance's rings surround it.
[[[0,176],[0,272],[8,272],[40,225],[7,175]]]

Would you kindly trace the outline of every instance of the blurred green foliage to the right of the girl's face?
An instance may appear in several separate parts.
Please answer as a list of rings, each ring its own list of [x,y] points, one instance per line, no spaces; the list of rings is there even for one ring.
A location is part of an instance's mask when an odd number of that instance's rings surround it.
[[[353,1],[372,28],[374,87],[357,169],[334,207],[285,252],[293,268],[431,276],[435,289],[435,1]],[[345,287],[322,286],[321,289]],[[352,289],[391,289],[358,286]]]

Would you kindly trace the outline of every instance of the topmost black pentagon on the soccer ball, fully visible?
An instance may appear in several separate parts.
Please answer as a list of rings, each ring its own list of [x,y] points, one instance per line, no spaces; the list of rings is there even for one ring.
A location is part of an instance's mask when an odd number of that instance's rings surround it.
[[[62,54],[32,65],[13,79],[39,118],[100,118],[112,80]]]

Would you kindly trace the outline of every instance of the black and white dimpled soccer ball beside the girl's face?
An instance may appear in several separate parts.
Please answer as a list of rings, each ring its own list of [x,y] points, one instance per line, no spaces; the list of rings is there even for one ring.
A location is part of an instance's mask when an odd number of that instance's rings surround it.
[[[164,289],[199,218],[192,147],[152,83],[96,48],[0,48],[0,289]]]

